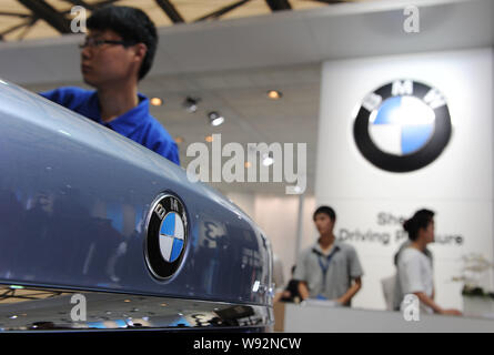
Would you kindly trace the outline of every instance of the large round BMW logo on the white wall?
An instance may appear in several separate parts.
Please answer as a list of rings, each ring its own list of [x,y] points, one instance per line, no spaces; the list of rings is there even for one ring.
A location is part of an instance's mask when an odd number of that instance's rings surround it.
[[[412,80],[396,80],[367,94],[353,126],[362,155],[391,172],[410,172],[433,162],[451,131],[443,94]]]

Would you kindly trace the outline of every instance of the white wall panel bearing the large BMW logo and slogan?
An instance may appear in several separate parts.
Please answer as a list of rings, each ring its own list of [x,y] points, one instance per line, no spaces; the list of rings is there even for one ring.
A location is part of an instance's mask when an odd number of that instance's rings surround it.
[[[436,212],[436,301],[462,308],[462,256],[493,261],[493,50],[415,53],[326,61],[322,69],[315,200],[336,210],[336,237],[354,245],[364,267],[353,306],[385,307],[381,278],[394,274],[393,255],[406,240],[400,219]],[[421,170],[375,168],[353,138],[355,108],[381,85],[412,79],[438,89],[453,133],[442,154]],[[493,276],[483,277],[493,290]]]

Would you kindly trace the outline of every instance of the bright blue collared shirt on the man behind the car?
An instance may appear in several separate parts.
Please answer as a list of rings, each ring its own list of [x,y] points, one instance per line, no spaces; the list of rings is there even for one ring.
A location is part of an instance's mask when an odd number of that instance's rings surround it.
[[[101,123],[180,165],[179,149],[167,130],[149,113],[149,100],[139,95],[139,104],[110,122],[101,120],[98,92],[81,88],[59,88],[41,92],[42,97],[88,119]]]

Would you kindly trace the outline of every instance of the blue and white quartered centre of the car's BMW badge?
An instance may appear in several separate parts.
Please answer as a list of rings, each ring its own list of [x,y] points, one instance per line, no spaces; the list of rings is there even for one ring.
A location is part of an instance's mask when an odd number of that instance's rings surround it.
[[[183,250],[183,222],[177,212],[168,213],[160,227],[160,251],[163,258],[173,263]]]

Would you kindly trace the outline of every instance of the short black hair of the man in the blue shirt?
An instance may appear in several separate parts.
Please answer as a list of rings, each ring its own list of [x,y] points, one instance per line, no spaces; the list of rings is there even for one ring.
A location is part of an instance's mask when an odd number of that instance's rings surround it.
[[[92,12],[87,26],[90,30],[112,30],[129,43],[144,43],[148,47],[148,52],[139,70],[139,80],[148,74],[157,53],[158,33],[154,23],[144,11],[110,4]]]

